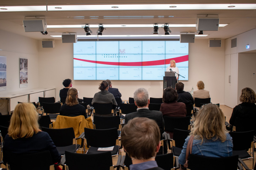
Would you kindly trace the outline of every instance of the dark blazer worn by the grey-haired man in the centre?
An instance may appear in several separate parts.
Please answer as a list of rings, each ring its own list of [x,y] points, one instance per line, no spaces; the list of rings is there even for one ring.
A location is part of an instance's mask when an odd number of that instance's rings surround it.
[[[128,123],[130,119],[137,117],[145,117],[149,119],[153,119],[158,124],[159,128],[164,130],[164,119],[162,117],[162,112],[160,111],[150,111],[149,109],[139,109],[137,112],[126,114],[124,125]]]

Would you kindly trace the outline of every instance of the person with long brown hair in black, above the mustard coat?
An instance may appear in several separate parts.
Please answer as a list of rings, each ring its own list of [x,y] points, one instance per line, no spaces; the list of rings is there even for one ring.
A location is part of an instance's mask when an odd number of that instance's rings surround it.
[[[78,103],[78,91],[75,88],[68,90],[66,103],[60,107],[60,115],[71,117],[83,115],[87,118],[85,107]]]

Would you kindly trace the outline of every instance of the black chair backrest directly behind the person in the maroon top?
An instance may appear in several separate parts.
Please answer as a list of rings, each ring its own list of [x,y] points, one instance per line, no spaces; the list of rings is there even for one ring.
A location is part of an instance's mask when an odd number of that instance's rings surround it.
[[[169,117],[164,116],[165,130],[173,132],[174,129],[188,130],[190,125],[190,116],[187,117]]]

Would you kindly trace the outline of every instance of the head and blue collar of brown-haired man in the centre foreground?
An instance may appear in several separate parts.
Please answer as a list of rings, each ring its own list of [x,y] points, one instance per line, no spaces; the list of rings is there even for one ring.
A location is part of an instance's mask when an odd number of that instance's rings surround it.
[[[162,170],[155,161],[160,135],[158,125],[149,118],[134,118],[122,128],[121,143],[132,158],[130,170]]]

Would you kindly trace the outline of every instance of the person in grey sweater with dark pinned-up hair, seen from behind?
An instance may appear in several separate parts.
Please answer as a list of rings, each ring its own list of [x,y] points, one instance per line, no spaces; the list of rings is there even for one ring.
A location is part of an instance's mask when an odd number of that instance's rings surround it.
[[[108,91],[107,81],[102,81],[99,84],[99,92],[95,93],[94,98],[92,99],[92,104],[94,103],[112,103],[117,106],[117,102],[114,96]],[[114,109],[114,114],[117,114],[116,109]],[[113,114],[112,114],[113,115]]]

